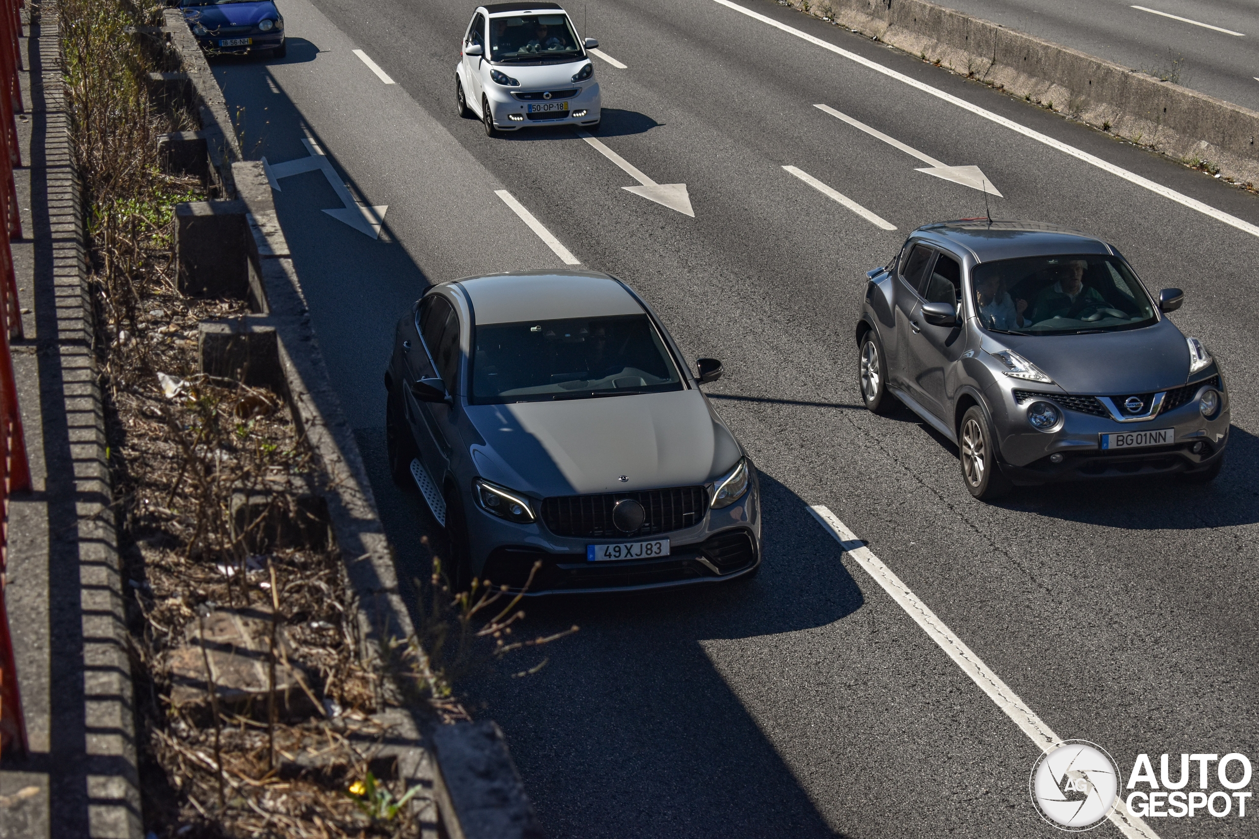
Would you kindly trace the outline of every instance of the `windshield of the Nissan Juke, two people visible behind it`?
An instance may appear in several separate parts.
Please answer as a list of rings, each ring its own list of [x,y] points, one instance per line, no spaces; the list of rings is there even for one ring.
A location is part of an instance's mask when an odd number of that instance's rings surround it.
[[[1141,281],[1118,257],[1030,257],[971,273],[980,325],[993,332],[1117,332],[1158,319]]]

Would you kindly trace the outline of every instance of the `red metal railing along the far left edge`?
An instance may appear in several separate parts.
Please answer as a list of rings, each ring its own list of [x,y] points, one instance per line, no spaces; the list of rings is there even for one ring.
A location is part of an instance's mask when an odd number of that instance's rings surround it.
[[[9,558],[9,497],[30,489],[30,465],[18,410],[18,386],[13,372],[9,341],[23,337],[21,308],[18,302],[18,277],[14,273],[11,239],[21,238],[18,213],[18,185],[14,166],[21,165],[18,148],[18,122],[21,112],[21,8],[23,0],[0,0],[0,225],[9,235],[0,236],[0,751],[26,751],[26,723],[21,714],[18,674],[14,668],[13,638],[4,606],[4,587]]]

